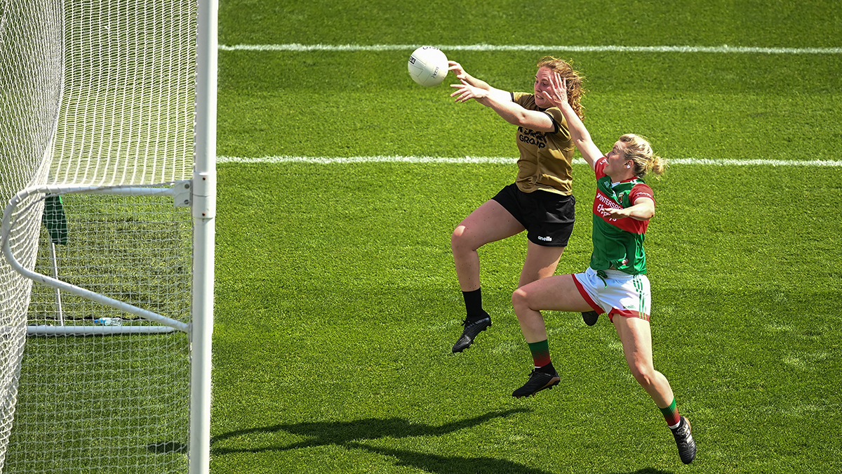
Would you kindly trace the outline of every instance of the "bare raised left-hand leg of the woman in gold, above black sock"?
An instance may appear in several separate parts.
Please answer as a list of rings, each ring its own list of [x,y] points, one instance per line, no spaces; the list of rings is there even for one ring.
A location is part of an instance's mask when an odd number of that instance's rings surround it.
[[[450,236],[450,248],[461,290],[473,291],[480,287],[477,249],[524,230],[524,226],[493,199],[477,207],[457,225]]]

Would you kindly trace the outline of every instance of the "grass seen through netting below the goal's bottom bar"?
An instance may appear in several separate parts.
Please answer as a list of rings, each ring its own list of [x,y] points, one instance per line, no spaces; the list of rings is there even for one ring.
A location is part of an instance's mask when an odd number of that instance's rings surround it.
[[[183,333],[29,337],[20,377],[5,471],[186,471]]]

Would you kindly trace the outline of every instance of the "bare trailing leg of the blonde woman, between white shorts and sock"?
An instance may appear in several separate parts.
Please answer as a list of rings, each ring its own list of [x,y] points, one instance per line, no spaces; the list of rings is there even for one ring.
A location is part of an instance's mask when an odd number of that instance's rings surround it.
[[[674,400],[673,390],[667,378],[653,366],[649,321],[618,315],[614,316],[614,326],[623,344],[626,363],[637,383],[652,397],[658,408],[669,407]]]

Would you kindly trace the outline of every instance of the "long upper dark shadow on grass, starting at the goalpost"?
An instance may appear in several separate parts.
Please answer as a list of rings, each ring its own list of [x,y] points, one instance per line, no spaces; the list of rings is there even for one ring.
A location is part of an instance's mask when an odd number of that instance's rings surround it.
[[[348,445],[353,442],[378,438],[409,438],[413,436],[441,436],[450,434],[460,429],[472,428],[486,423],[494,418],[508,417],[515,413],[530,412],[526,408],[516,408],[502,412],[488,412],[479,417],[472,417],[452,423],[445,423],[440,426],[431,426],[421,423],[410,423],[403,418],[365,418],[350,422],[305,422],[276,424],[260,428],[241,429],[225,434],[214,436],[210,439],[210,452],[213,455],[226,455],[231,453],[260,453],[265,451],[285,451],[323,446],[327,444]],[[262,446],[262,447],[232,447],[216,448],[214,444],[230,438],[248,434],[273,434],[284,431],[289,434],[306,436],[309,439],[284,446]]]

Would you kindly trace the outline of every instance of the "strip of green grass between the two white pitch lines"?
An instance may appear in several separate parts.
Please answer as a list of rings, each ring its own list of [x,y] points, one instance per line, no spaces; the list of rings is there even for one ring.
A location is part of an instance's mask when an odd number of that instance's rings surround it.
[[[451,78],[413,83],[409,52],[222,52],[219,154],[514,156],[512,128],[482,105],[453,103]],[[537,59],[552,52],[450,57],[496,87],[530,91]],[[638,132],[666,157],[838,159],[842,55],[557,54],[588,78],[586,123],[600,146]]]

